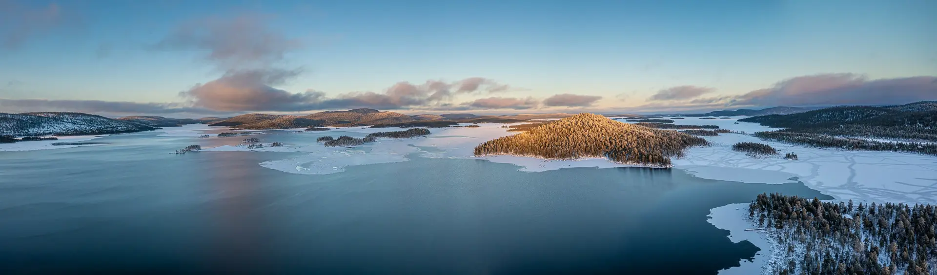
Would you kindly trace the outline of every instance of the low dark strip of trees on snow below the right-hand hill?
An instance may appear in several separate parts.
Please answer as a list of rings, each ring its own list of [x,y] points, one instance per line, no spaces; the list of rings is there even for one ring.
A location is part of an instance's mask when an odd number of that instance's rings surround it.
[[[918,142],[882,142],[860,138],[840,138],[813,133],[793,133],[787,130],[757,132],[755,137],[791,144],[822,148],[840,148],[858,151],[917,152],[937,155],[937,144]]]

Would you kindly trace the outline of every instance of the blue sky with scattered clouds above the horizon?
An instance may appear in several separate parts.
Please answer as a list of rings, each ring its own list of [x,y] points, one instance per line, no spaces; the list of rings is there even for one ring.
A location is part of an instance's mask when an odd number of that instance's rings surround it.
[[[0,0],[0,112],[904,104],[937,100],[934,14],[910,0]]]

